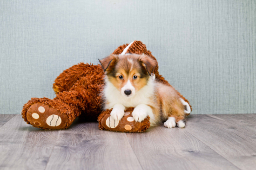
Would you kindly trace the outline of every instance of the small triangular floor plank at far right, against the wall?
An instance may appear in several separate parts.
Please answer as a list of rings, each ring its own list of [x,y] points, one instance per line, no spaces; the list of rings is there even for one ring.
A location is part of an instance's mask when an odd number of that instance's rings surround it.
[[[256,133],[256,119],[250,117],[251,114],[249,116],[244,114],[215,114],[215,116],[250,132]]]

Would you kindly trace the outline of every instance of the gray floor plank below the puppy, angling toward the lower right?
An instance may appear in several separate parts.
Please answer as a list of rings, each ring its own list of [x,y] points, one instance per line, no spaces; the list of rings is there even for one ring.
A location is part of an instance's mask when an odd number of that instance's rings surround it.
[[[181,128],[162,125],[127,136],[144,170],[239,170]]]

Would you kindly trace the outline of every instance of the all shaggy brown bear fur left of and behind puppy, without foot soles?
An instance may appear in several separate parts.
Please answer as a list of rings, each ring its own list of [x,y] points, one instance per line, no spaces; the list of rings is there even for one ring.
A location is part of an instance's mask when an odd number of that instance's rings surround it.
[[[118,47],[113,54],[118,55],[124,50],[128,44]],[[146,49],[146,46],[141,41],[135,41],[128,53],[146,54],[155,59],[151,52]],[[157,64],[157,62],[156,62]],[[156,65],[153,73],[155,73],[156,80],[164,84],[168,84],[164,78],[158,73],[158,65]],[[61,114],[68,116],[67,127],[69,127],[74,119],[83,114],[88,120],[97,120],[97,116],[101,113],[101,89],[104,85],[104,70],[100,65],[90,65],[80,63],[63,71],[55,79],[53,88],[56,97],[51,100],[48,98],[32,98],[28,101],[22,109],[22,117],[27,121],[27,110],[34,103],[44,103],[59,110]],[[179,94],[179,93],[178,93]],[[181,94],[179,94],[184,101],[187,101]],[[188,102],[188,101],[187,101]]]

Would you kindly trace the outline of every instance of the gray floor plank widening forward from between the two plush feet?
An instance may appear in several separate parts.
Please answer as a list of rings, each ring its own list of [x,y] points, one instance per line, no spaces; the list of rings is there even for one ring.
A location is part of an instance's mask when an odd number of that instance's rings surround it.
[[[46,170],[142,170],[125,133],[78,123],[61,131]]]

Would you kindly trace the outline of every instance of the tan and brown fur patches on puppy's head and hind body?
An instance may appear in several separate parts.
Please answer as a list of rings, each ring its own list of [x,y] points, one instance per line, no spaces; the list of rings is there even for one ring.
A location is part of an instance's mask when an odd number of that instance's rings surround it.
[[[102,68],[106,70],[108,81],[120,92],[128,80],[136,92],[146,86],[156,66],[156,60],[144,54],[110,55],[100,62]],[[122,78],[120,79],[119,76]],[[133,79],[133,76],[137,78]],[[184,106],[179,94],[166,83],[156,80],[155,93],[148,102],[147,105],[152,108],[155,115],[156,124],[167,120],[168,117],[174,117],[176,122],[185,119]]]

